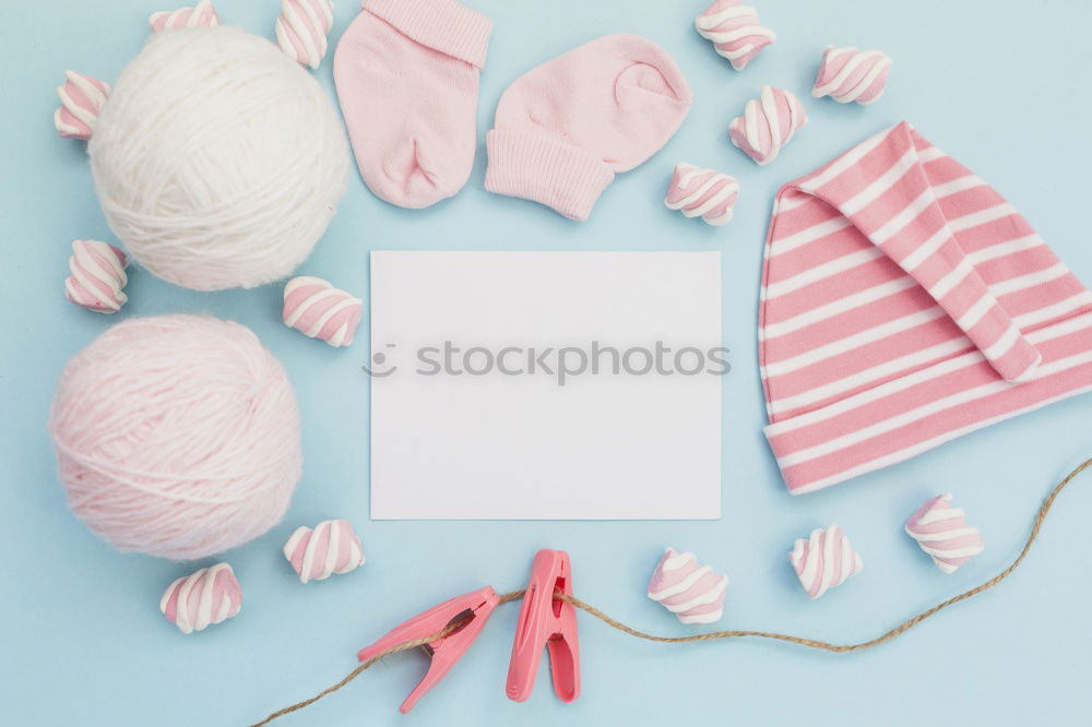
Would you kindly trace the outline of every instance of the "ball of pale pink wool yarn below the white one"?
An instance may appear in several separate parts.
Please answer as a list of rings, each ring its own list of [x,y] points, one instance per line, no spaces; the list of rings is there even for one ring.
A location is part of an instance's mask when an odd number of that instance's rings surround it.
[[[64,369],[49,428],[69,505],[120,550],[203,558],[284,516],[302,467],[284,369],[204,315],[119,323]]]

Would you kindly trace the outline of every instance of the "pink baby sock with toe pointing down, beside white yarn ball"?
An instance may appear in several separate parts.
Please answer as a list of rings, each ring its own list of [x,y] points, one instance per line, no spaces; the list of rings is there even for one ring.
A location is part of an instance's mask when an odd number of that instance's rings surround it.
[[[427,207],[466,183],[491,32],[488,17],[455,0],[364,0],[337,44],[334,81],[376,196]]]

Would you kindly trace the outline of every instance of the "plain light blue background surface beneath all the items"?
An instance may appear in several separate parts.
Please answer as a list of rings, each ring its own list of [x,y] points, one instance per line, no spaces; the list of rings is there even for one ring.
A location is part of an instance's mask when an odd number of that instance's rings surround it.
[[[483,190],[484,147],[455,199],[424,212],[389,206],[354,174],[302,272],[368,293],[373,249],[721,250],[724,516],[719,522],[369,522],[368,384],[360,343],[335,351],[285,329],[281,287],[198,294],[138,270],[116,318],[66,302],[73,238],[114,241],[83,144],[50,116],[66,68],[111,80],[139,50],[159,0],[0,5],[0,700],[9,725],[241,725],[336,681],[357,648],[449,596],[489,583],[522,587],[536,549],[567,549],[577,593],[664,634],[690,631],[644,596],[665,545],[696,550],[732,579],[722,627],[835,641],[870,637],[969,587],[1017,552],[1047,489],[1092,455],[1092,397],[992,427],[826,492],[791,498],[762,440],[755,351],[762,240],[782,182],[900,119],[1008,196],[1059,255],[1092,281],[1085,0],[755,0],[779,41],[737,73],[692,27],[703,5],[662,0],[473,0],[496,29],[482,79],[479,141],[505,87],[531,67],[608,33],[666,48],[696,95],[667,147],[604,194],[590,222]],[[170,4],[169,2],[167,3]],[[229,23],[271,33],[276,0],[219,0]],[[332,39],[355,15],[339,0]],[[859,45],[895,61],[876,106],[808,97],[823,46]],[[333,93],[330,59],[318,72]],[[729,145],[728,120],[763,84],[799,95],[811,117],[774,164]],[[736,221],[714,229],[665,210],[680,159],[738,177]],[[299,395],[306,473],[285,522],[227,555],[241,615],[182,636],[159,615],[162,589],[195,565],[119,555],[69,514],[45,425],[64,361],[119,319],[204,311],[251,326],[285,362]],[[442,486],[442,482],[438,484]],[[665,486],[669,487],[669,482]],[[902,533],[925,497],[953,490],[986,553],[941,575]],[[1092,482],[1067,492],[1040,545],[1000,588],[893,644],[835,656],[757,642],[648,644],[580,618],[583,694],[562,704],[547,672],[526,704],[503,696],[517,608],[497,611],[448,679],[408,716],[397,704],[424,671],[407,655],[369,671],[284,725],[1076,724],[1092,711],[1088,652],[1088,511]],[[281,556],[299,524],[352,519],[368,553],[349,576],[301,586]],[[866,561],[862,575],[809,601],[786,563],[792,540],[836,521]],[[210,561],[211,562],[211,561]],[[205,563],[201,563],[205,564]],[[280,724],[280,723],[278,723]]]

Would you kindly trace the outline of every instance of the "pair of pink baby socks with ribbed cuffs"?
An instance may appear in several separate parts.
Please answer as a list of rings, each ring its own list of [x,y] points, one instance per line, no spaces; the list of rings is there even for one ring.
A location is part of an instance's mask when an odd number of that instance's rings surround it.
[[[427,207],[470,178],[492,24],[455,0],[365,0],[334,80],[360,175],[382,200]],[[515,81],[486,144],[486,188],[584,219],[615,172],[675,133],[690,90],[656,45],[612,35]]]

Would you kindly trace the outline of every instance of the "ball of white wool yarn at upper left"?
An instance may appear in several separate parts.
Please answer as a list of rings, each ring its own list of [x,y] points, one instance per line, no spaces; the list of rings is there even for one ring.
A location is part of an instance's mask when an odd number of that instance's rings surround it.
[[[154,34],[114,84],[87,152],[132,257],[198,290],[292,273],[333,217],[349,160],[318,82],[225,26]]]

